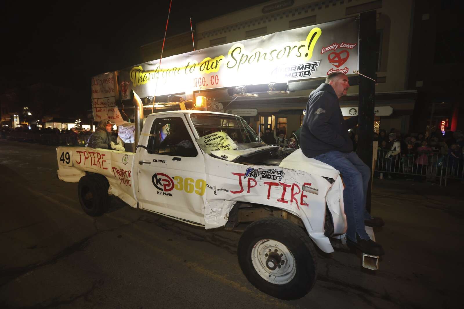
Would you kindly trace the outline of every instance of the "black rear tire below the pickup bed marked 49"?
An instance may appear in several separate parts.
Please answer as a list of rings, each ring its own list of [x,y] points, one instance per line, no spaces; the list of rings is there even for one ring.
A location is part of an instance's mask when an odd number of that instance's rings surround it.
[[[90,216],[99,216],[108,209],[108,180],[102,175],[89,174],[81,177],[77,195],[82,209]]]

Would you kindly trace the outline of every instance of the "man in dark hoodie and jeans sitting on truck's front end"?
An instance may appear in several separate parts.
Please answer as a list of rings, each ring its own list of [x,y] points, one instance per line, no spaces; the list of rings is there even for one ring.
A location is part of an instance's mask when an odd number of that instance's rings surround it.
[[[367,226],[382,226],[383,220],[373,218],[366,210],[367,186],[371,169],[353,152],[348,128],[354,127],[357,117],[343,120],[338,99],[346,96],[348,77],[332,73],[311,92],[300,133],[300,148],[309,158],[338,169],[345,189],[343,201],[347,217],[347,244],[369,255],[382,255],[382,246],[369,238]]]

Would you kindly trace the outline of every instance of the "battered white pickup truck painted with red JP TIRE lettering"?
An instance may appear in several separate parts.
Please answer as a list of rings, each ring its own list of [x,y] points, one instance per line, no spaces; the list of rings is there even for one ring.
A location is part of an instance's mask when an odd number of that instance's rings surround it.
[[[58,177],[78,182],[82,208],[101,215],[114,194],[131,207],[206,229],[243,231],[238,261],[259,290],[306,295],[314,244],[343,239],[339,172],[296,150],[283,160],[239,116],[198,110],[149,115],[135,153],[58,147]],[[377,260],[374,261],[378,263]]]

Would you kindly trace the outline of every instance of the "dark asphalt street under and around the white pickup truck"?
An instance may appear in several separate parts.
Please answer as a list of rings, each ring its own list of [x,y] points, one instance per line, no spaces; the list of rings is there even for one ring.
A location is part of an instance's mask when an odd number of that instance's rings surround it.
[[[86,215],[77,183],[58,180],[55,147],[0,140],[0,308],[456,308],[462,199],[430,184],[375,180],[374,229],[386,255],[318,251],[313,290],[282,301],[237,260],[240,234],[167,219],[111,199]],[[462,187],[462,186],[461,186]]]

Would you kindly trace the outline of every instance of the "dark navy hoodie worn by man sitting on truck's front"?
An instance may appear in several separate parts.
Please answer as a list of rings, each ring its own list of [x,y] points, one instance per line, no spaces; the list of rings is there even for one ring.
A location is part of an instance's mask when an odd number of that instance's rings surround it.
[[[358,117],[343,120],[338,97],[331,85],[323,83],[309,95],[306,114],[300,133],[300,148],[309,158],[331,150],[353,151],[348,128],[356,125]]]

